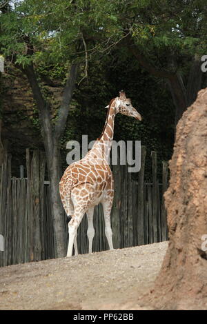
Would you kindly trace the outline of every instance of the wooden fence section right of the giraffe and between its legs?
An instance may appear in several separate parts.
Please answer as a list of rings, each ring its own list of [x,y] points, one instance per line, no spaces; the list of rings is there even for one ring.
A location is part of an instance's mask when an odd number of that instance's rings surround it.
[[[162,183],[157,180],[157,153],[151,153],[152,183],[144,181],[146,148],[141,147],[141,170],[138,181],[128,173],[128,165],[113,165],[115,198],[111,212],[112,241],[115,248],[166,241],[168,229],[163,194],[168,188],[168,163],[162,163]],[[104,234],[102,206],[95,207],[94,252],[108,249]],[[88,221],[83,216],[78,232],[79,253],[88,252]]]

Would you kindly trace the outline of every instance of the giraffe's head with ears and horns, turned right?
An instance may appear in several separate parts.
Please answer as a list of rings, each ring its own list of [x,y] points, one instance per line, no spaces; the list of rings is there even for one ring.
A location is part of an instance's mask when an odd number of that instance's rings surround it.
[[[126,116],[134,117],[138,121],[141,121],[141,114],[132,106],[130,99],[126,98],[124,91],[120,91],[119,97],[113,99],[110,104],[112,103],[114,103],[116,114],[125,114]],[[109,105],[106,108],[108,107]]]

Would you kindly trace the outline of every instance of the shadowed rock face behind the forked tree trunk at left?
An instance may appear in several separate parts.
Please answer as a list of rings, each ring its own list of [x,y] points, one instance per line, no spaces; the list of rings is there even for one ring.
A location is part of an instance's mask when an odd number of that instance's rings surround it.
[[[50,99],[52,117],[55,117],[63,89],[60,86],[51,87],[46,82],[41,82],[41,85],[44,94]],[[19,165],[26,164],[26,148],[44,150],[38,127],[39,112],[28,79],[18,69],[8,66],[8,71],[1,76],[1,86],[3,88],[0,89],[3,107],[1,138],[3,143],[7,142],[8,152],[12,154],[12,168],[17,165],[14,175],[18,176]]]

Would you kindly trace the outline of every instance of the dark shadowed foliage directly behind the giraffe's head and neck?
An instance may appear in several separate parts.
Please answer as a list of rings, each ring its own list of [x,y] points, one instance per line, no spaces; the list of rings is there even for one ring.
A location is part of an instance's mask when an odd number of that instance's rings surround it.
[[[112,55],[115,54],[114,52]],[[121,57],[116,52],[117,57]],[[121,73],[120,73],[121,71]],[[135,61],[105,57],[98,63],[90,63],[88,80],[83,81],[75,91],[72,110],[70,110],[66,131],[61,141],[63,168],[66,168],[66,143],[79,141],[88,134],[88,142],[101,134],[110,100],[124,89],[132,100],[132,105],[141,113],[143,121],[118,114],[115,119],[116,141],[141,141],[146,145],[146,177],[150,179],[150,152],[156,150],[159,160],[168,161],[172,155],[174,141],[175,108],[164,81],[157,81],[146,71],[141,70]]]

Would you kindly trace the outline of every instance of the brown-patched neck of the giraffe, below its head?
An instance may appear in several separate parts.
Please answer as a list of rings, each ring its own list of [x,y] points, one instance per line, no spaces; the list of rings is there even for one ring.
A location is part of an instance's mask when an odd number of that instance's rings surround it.
[[[98,139],[99,143],[103,145],[103,154],[106,161],[109,161],[110,149],[114,136],[115,116],[115,101],[112,101],[108,108],[108,114],[106,117],[106,123],[104,125],[103,132]]]

